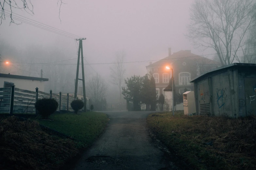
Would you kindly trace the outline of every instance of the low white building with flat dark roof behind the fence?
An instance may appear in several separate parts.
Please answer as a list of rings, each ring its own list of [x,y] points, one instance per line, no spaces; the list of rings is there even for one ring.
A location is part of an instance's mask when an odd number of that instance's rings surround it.
[[[35,91],[36,87],[38,87],[39,91],[44,92],[44,82],[48,80],[48,78],[18,76],[0,73],[0,88],[11,87],[14,84],[15,87],[19,89]]]

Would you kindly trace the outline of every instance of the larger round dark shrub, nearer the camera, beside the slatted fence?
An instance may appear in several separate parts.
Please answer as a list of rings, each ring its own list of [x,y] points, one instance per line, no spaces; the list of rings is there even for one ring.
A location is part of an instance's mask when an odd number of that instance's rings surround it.
[[[55,99],[42,98],[35,103],[35,107],[38,113],[42,116],[42,119],[48,119],[59,106],[59,103]]]

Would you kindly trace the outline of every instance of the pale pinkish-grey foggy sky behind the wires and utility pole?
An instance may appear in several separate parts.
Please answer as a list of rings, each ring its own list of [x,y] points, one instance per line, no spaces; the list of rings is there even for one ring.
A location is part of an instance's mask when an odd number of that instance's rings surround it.
[[[189,7],[192,0],[111,0],[111,1],[63,1],[60,8],[57,0],[32,1],[34,14],[24,10],[13,9],[14,13],[42,22],[60,30],[86,37],[83,40],[85,60],[85,79],[99,74],[108,83],[107,102],[118,101],[118,88],[111,84],[111,63],[115,62],[115,52],[124,50],[125,62],[160,60],[172,52],[194,49],[184,34],[189,23]],[[60,5],[60,4],[59,4]],[[14,19],[15,21],[15,19]],[[49,78],[45,91],[74,92],[76,75],[77,43],[74,39],[61,36],[35,26],[6,18],[0,25],[1,61],[15,64],[1,67],[1,73]],[[20,24],[19,24],[20,23]],[[211,50],[208,50],[212,52]],[[205,53],[205,52],[204,52]],[[57,64],[74,65],[26,65],[18,63],[48,63],[68,60]],[[145,75],[149,62],[125,63],[125,77]],[[17,69],[18,67],[19,69]],[[24,71],[25,70],[25,71]],[[65,74],[60,74],[64,73]],[[62,77],[56,79],[56,75]],[[81,65],[79,78],[81,78]],[[53,79],[57,86],[51,83]],[[79,82],[79,87],[82,82]],[[116,96],[115,96],[116,94]]]

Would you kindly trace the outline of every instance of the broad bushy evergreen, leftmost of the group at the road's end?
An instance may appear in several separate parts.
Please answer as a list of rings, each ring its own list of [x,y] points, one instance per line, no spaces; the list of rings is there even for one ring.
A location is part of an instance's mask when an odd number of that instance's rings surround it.
[[[125,96],[124,99],[133,102],[134,111],[141,111],[140,93],[142,90],[142,80],[143,77],[134,75],[130,78],[125,79],[125,84],[127,88],[122,87],[122,94]]]

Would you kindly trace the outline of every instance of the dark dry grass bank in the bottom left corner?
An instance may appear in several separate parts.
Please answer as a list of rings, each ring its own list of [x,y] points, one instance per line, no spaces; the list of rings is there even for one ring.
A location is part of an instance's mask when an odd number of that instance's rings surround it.
[[[0,120],[0,169],[58,169],[78,152],[76,142],[48,135],[37,121]]]

